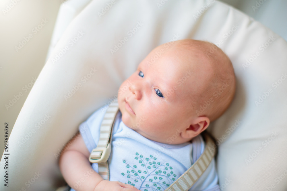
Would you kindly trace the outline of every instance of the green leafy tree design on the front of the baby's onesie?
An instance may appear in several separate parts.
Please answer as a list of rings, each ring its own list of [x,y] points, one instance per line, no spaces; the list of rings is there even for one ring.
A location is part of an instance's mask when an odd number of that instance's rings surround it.
[[[137,162],[134,165],[123,160],[127,172],[122,172],[121,175],[128,178],[128,182],[125,184],[130,184],[138,189],[143,188],[144,191],[161,191],[175,181],[177,175],[173,173],[172,167],[168,163],[156,161],[157,158],[152,155],[144,157],[138,152],[135,153],[135,160]]]

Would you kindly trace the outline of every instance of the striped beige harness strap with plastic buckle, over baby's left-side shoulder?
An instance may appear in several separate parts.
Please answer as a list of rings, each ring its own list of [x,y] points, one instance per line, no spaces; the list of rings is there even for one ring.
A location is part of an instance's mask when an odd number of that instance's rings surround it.
[[[118,105],[117,100],[115,100],[115,102],[112,103],[109,106],[109,108],[106,110],[106,113],[102,120],[102,124],[100,127],[100,139],[99,139],[96,149],[104,150],[107,148],[108,143],[111,143],[113,126],[114,126],[115,118],[118,112],[119,112],[119,105]],[[96,149],[93,149],[90,154],[90,162],[94,162],[93,160],[98,160],[102,156],[103,151],[94,151]],[[107,154],[110,155],[110,152]],[[108,157],[106,160],[108,160]],[[94,163],[97,163],[97,162],[94,162]],[[100,162],[98,163],[98,167],[99,167],[100,176],[102,176],[104,180],[109,180],[110,173],[109,173],[108,162],[107,161]]]

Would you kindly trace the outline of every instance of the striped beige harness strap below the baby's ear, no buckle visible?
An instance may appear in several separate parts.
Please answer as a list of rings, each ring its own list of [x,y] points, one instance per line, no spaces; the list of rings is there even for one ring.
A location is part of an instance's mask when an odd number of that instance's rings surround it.
[[[199,179],[199,177],[206,170],[212,158],[216,153],[216,148],[213,148],[213,139],[208,133],[203,133],[205,139],[205,149],[200,157],[193,163],[193,165],[185,171],[177,180],[175,180],[165,191],[187,191]]]

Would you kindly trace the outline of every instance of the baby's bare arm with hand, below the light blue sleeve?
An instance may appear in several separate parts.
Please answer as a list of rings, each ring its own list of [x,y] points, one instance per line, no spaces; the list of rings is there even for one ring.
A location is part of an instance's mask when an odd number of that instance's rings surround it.
[[[66,182],[74,190],[138,190],[122,182],[104,180],[95,172],[88,160],[90,152],[80,134],[77,134],[66,147],[67,149],[60,156],[59,166]],[[79,185],[79,183],[81,184]]]

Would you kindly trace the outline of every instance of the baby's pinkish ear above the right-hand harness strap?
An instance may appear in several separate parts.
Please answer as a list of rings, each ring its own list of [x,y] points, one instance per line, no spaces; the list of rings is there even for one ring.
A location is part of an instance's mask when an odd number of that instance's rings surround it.
[[[200,116],[195,118],[189,127],[183,130],[181,136],[185,139],[190,139],[199,135],[202,131],[204,131],[210,123],[208,117]]]

